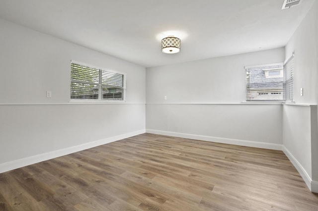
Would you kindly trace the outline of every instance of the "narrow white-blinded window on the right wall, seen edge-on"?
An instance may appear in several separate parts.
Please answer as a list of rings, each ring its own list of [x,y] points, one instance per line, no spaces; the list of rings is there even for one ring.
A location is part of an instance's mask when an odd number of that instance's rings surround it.
[[[284,64],[285,76],[285,100],[294,101],[294,55],[292,55]]]

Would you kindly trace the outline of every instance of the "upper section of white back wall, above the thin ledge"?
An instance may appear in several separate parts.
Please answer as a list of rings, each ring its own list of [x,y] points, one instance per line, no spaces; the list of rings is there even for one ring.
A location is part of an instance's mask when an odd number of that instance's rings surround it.
[[[284,60],[284,48],[278,48],[147,68],[147,104],[239,104],[245,101],[244,66]]]

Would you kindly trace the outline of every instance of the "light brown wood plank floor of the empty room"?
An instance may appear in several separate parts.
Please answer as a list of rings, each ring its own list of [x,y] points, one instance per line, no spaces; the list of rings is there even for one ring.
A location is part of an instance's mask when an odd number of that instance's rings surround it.
[[[0,174],[0,211],[314,211],[281,151],[142,134]]]

